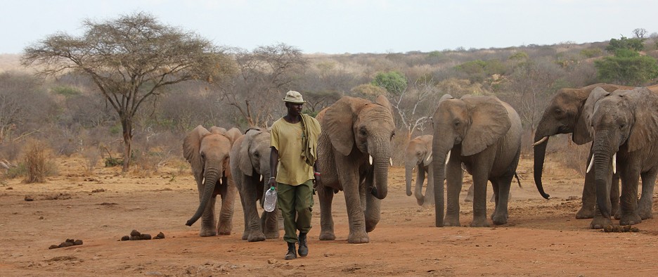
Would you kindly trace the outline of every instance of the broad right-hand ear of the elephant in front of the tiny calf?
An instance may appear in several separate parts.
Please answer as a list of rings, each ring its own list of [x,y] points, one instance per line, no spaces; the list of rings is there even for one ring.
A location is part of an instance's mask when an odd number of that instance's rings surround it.
[[[462,155],[482,152],[512,127],[507,109],[496,96],[469,96],[462,101],[466,103],[471,119],[462,141]]]

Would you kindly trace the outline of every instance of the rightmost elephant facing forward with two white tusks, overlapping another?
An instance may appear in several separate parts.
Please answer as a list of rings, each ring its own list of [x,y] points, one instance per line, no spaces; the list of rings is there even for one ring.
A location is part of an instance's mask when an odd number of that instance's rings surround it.
[[[652,197],[658,174],[658,95],[647,88],[609,93],[594,89],[583,112],[592,136],[591,170],[594,172],[598,211],[591,228],[611,225],[608,201],[610,177],[616,163],[621,180],[620,225],[652,218]],[[616,160],[613,160],[616,154]],[[638,204],[638,180],[642,187]]]

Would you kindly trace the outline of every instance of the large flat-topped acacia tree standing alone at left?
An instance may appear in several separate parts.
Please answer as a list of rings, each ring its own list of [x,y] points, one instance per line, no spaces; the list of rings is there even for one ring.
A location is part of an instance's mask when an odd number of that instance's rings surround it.
[[[134,117],[145,99],[163,86],[192,79],[212,81],[230,69],[224,50],[193,32],[162,25],[153,15],[132,13],[96,22],[83,20],[84,34],[51,34],[27,46],[22,65],[39,75],[77,72],[91,77],[123,129],[123,171],[129,167]]]

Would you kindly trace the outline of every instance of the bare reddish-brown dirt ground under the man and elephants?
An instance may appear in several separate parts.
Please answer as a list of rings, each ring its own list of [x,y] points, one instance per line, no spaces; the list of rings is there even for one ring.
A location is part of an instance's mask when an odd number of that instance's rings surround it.
[[[347,243],[347,214],[334,203],[337,239],[319,241],[319,205],[309,233],[308,257],[284,260],[282,239],[241,240],[243,212],[236,199],[231,236],[198,236],[185,226],[198,203],[186,165],[154,174],[99,168],[83,174],[82,158],[58,160],[60,174],[47,183],[7,180],[0,185],[0,276],[655,276],[658,220],[637,233],[604,233],[575,219],[583,178],[548,162],[544,200],[534,186],[531,160],[512,186],[509,223],[465,227],[472,206],[461,207],[463,227],[434,227],[434,206],[406,196],[404,169],[389,173],[382,220],[370,243]],[[470,185],[465,181],[463,195]],[[489,193],[491,187],[489,186]],[[26,195],[33,201],[26,201]],[[236,197],[239,197],[236,195]],[[654,211],[658,202],[654,196]],[[219,206],[219,205],[218,205]],[[489,203],[489,214],[494,205]],[[655,213],[655,212],[654,212]],[[132,230],[160,240],[119,241]],[[283,231],[280,231],[283,237]],[[83,245],[49,250],[66,239]]]

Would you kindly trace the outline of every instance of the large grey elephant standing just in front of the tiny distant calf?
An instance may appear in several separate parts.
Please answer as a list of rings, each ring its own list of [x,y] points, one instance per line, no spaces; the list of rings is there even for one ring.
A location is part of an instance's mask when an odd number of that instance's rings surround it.
[[[473,177],[473,221],[470,226],[489,226],[486,219],[486,183],[496,195],[494,224],[508,221],[512,178],[521,153],[521,120],[508,103],[496,96],[441,97],[432,117],[434,137],[434,202],[436,226],[460,226],[459,192],[463,171]],[[446,214],[444,220],[444,176]]]

